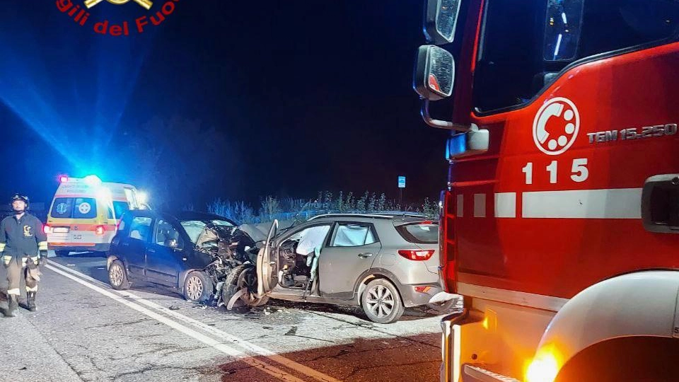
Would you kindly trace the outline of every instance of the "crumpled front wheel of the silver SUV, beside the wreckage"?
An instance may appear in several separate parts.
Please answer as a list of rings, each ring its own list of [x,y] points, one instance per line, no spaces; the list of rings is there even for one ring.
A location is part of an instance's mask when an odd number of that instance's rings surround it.
[[[222,301],[228,306],[228,302],[240,289],[245,288],[245,292],[233,303],[231,309],[239,313],[245,313],[253,306],[264,305],[269,301],[268,296],[257,298],[257,272],[253,265],[238,265],[233,268],[226,277],[224,289],[222,289]]]

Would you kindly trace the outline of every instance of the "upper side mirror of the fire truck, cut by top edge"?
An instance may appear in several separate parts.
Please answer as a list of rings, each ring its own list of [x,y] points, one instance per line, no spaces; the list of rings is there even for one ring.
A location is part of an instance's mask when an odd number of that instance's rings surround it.
[[[440,45],[453,42],[460,13],[461,0],[426,0],[424,6],[424,37]]]

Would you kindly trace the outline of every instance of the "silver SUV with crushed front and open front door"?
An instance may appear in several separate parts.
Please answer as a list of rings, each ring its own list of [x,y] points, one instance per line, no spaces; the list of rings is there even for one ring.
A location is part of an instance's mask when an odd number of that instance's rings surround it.
[[[439,284],[438,230],[437,221],[404,214],[321,215],[283,232],[274,221],[257,266],[228,277],[224,301],[354,305],[394,323],[406,307],[453,299]]]

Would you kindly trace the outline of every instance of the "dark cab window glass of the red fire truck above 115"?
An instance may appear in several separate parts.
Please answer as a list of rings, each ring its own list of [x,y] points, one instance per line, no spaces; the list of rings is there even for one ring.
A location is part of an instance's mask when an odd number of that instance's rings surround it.
[[[473,100],[476,112],[521,107],[559,71],[598,54],[677,40],[677,0],[487,0]]]

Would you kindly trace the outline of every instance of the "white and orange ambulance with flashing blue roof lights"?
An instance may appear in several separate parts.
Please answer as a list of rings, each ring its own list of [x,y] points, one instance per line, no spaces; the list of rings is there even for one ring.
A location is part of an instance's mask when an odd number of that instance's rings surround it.
[[[141,208],[140,196],[133,185],[96,175],[60,177],[45,224],[48,248],[57,256],[108,251],[122,214]]]

